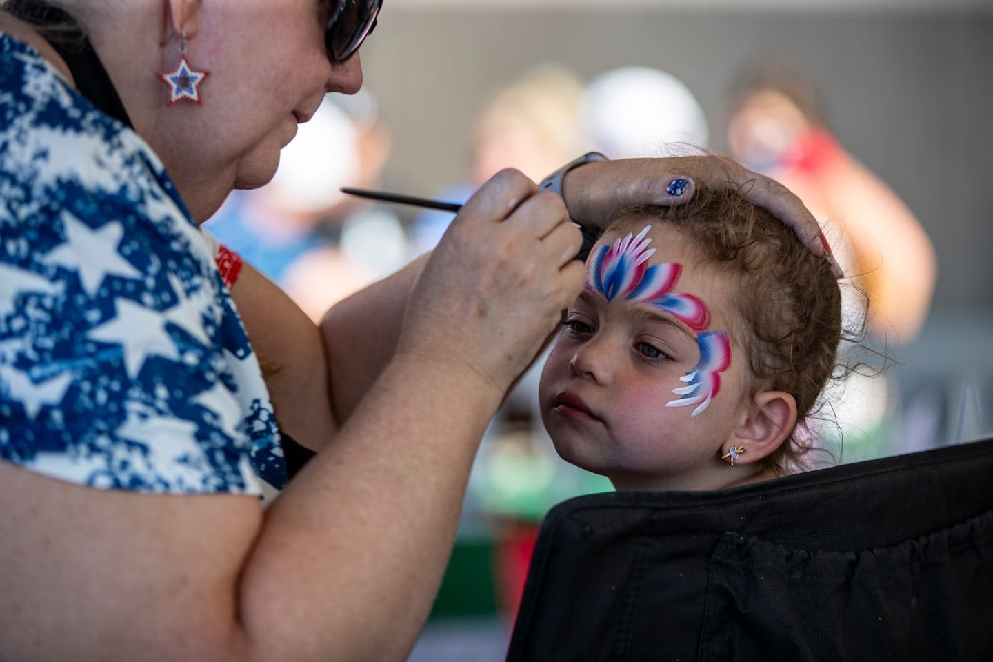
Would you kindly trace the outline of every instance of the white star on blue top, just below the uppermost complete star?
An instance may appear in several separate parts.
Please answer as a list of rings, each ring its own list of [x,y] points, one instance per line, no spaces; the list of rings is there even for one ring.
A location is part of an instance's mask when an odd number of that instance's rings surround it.
[[[127,299],[116,299],[116,305],[117,317],[94,327],[88,336],[120,344],[128,375],[137,376],[145,359],[152,354],[179,359],[176,341],[166,332],[166,319],[162,313]]]

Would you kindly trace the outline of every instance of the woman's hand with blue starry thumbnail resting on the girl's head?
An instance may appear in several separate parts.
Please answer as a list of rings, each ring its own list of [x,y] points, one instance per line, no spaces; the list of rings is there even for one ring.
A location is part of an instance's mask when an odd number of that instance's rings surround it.
[[[820,226],[800,199],[779,182],[726,157],[686,156],[590,163],[566,175],[562,192],[576,222],[597,226],[623,206],[668,206],[691,199],[696,184],[740,191],[750,202],[773,212],[796,232],[812,253],[823,255],[831,263],[835,276],[841,277],[841,267]]]

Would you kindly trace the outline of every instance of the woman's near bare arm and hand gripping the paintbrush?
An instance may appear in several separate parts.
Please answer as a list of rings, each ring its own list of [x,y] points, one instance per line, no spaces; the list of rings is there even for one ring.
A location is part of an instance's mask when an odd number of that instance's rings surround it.
[[[424,263],[335,443],[264,512],[0,462],[0,660],[404,659],[480,439],[583,286],[580,240],[560,199],[497,176]]]

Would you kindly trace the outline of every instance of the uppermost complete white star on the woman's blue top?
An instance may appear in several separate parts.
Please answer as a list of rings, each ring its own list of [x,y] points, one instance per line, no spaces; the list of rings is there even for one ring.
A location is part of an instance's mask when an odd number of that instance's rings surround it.
[[[124,227],[118,223],[107,223],[95,230],[78,220],[68,211],[63,211],[67,242],[45,256],[50,263],[75,270],[86,294],[96,294],[96,290],[109,274],[126,278],[140,278],[141,272],[117,252]]]

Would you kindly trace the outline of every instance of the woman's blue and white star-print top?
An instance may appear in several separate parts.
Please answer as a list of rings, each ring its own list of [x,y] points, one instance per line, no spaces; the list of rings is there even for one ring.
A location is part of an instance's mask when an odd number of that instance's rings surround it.
[[[146,492],[286,482],[258,360],[161,162],[2,34],[0,460]]]

